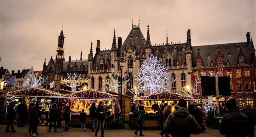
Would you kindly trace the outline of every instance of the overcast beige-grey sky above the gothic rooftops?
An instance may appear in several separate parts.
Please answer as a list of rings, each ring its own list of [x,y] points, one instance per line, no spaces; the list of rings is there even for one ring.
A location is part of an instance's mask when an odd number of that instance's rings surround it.
[[[55,59],[58,36],[65,36],[64,58],[88,58],[110,49],[114,28],[123,42],[133,25],[144,37],[149,25],[151,44],[185,42],[191,30],[192,46],[245,42],[251,32],[256,45],[255,0],[0,0],[0,66],[10,72],[43,69]]]

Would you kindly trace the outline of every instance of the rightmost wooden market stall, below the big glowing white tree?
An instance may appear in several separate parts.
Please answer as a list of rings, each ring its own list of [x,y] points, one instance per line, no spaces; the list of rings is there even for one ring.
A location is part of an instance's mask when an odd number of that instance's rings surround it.
[[[183,96],[178,93],[173,93],[169,91],[162,91],[152,95],[140,96],[136,98],[137,104],[143,104],[145,107],[145,119],[143,122],[144,127],[160,127],[158,112],[160,110],[159,106],[167,103],[172,105],[172,112],[174,107],[178,105],[180,99],[187,100],[187,105],[189,105],[189,100],[192,97]]]

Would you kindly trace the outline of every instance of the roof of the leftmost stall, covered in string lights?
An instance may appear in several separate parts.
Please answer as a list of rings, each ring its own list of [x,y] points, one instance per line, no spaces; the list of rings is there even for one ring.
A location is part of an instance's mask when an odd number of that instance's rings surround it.
[[[21,89],[14,92],[7,92],[6,95],[8,96],[61,96],[60,94],[53,93],[49,90],[40,89],[40,88],[27,88]]]

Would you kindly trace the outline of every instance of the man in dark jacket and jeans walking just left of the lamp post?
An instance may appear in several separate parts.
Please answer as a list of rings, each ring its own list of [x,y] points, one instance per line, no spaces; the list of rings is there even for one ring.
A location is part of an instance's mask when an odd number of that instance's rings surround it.
[[[106,110],[104,107],[104,103],[102,101],[99,102],[99,105],[95,110],[95,113],[97,114],[98,126],[94,136],[97,136],[97,133],[101,127],[101,137],[104,137],[104,124],[105,124],[105,118],[106,118]]]

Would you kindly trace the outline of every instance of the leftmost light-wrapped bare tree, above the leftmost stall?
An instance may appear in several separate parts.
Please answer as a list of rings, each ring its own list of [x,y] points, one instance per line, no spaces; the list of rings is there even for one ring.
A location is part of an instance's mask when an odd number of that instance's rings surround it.
[[[38,73],[36,73],[35,75],[33,75],[33,73],[30,74],[30,77],[27,78],[23,85],[27,85],[27,86],[30,86],[30,87],[39,87],[42,85],[42,83],[44,83],[46,81],[46,79],[44,79],[44,77],[42,77],[42,74],[38,77],[38,80],[37,80],[37,76],[38,76]]]

